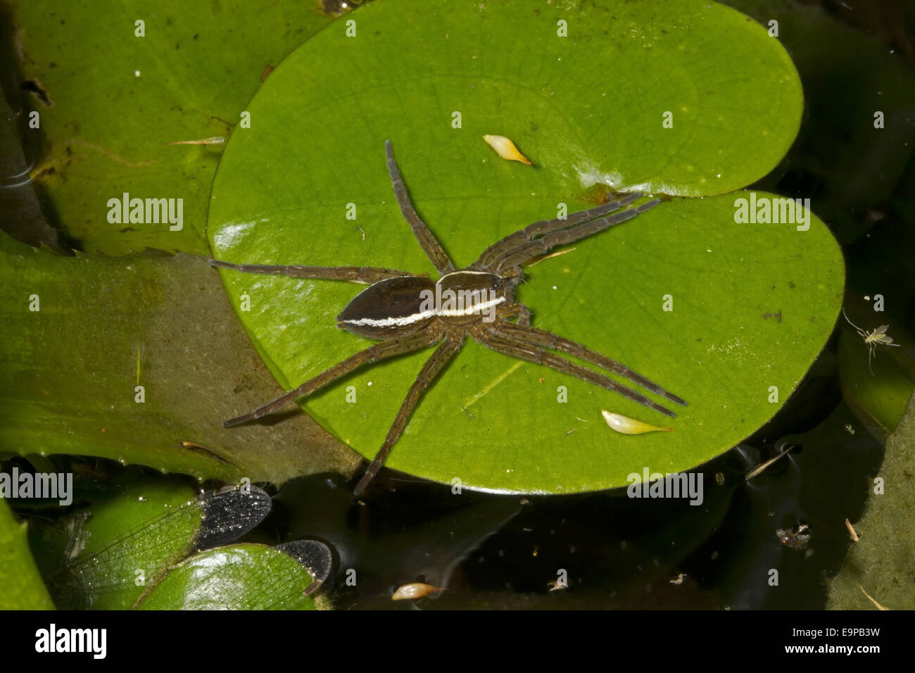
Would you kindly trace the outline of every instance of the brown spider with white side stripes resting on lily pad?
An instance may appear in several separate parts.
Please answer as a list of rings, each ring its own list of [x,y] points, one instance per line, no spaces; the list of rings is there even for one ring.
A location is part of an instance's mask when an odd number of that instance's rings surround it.
[[[490,245],[470,266],[456,269],[441,244],[416,213],[400,168],[394,161],[390,140],[385,141],[384,149],[394,195],[404,219],[441,277],[433,281],[427,276],[375,266],[271,266],[231,264],[211,259],[212,266],[247,273],[348,280],[369,285],[339,314],[337,327],[379,342],[308,379],[285,395],[257,407],[251,413],[230,418],[222,423],[223,427],[231,428],[262,418],[296,397],[310,395],[363,364],[412,353],[440,343],[410,386],[400,411],[384,438],[382,448],[356,485],[353,494],[359,496],[381,469],[394,443],[400,438],[425,388],[458,354],[468,336],[497,353],[544,364],[557,372],[571,374],[667,416],[673,417],[675,414],[639,392],[618,384],[607,375],[598,374],[550,351],[565,353],[595,364],[629,379],[655,395],[679,405],[686,404],[681,397],[651,383],[626,365],[595,353],[580,343],[532,327],[530,309],[514,299],[514,288],[522,281],[523,265],[545,255],[557,245],[574,243],[631,220],[658,205],[660,201],[655,199],[638,207],[626,208],[641,196],[641,192],[633,192],[616,201],[576,212],[566,218],[536,222]],[[430,301],[433,297],[435,303]],[[444,303],[441,298],[446,299]],[[515,318],[516,321],[512,322],[510,318]]]

